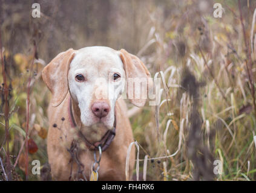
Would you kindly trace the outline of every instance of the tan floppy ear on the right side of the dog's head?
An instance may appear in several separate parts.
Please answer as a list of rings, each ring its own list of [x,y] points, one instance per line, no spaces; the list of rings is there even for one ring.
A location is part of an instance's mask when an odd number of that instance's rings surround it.
[[[135,106],[143,107],[146,103],[148,89],[153,84],[150,73],[136,55],[128,53],[125,49],[120,50],[120,58],[126,74],[126,95]]]

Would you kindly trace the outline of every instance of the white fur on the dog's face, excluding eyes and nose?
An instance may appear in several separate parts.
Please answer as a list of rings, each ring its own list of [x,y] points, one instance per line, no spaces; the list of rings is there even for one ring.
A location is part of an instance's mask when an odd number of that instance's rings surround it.
[[[121,78],[114,81],[114,73]],[[84,75],[85,81],[76,81],[77,74]],[[73,100],[78,103],[83,125],[90,127],[102,122],[109,129],[113,127],[116,100],[125,87],[125,70],[117,51],[103,46],[77,50],[70,63],[68,86]],[[101,119],[91,110],[91,105],[97,101],[104,101],[111,108],[108,115]]]

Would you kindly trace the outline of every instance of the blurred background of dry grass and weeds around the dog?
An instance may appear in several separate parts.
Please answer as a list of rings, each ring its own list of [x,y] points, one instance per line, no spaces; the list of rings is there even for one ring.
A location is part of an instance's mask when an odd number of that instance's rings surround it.
[[[34,2],[40,18],[31,17]],[[0,0],[0,180],[7,171],[51,180],[41,71],[59,52],[96,45],[124,48],[162,78],[160,105],[130,118],[140,180],[255,180],[255,8],[252,0]]]

